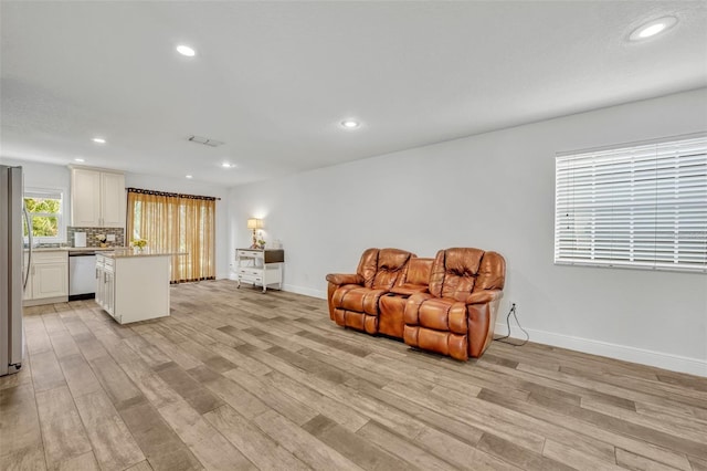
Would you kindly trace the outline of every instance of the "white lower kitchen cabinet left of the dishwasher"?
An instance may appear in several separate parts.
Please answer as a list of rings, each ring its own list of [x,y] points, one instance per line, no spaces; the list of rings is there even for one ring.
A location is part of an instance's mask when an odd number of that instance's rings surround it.
[[[24,305],[65,303],[68,301],[68,253],[65,250],[34,251],[30,278],[24,290]]]

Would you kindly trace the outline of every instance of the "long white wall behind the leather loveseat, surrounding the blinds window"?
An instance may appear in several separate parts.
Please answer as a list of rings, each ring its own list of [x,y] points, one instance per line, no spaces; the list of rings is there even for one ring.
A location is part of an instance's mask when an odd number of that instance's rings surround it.
[[[707,376],[707,276],[552,261],[556,153],[704,132],[706,111],[703,88],[236,187],[231,259],[262,217],[285,289],[325,297],[368,247],[496,250],[502,317],[516,302],[534,341]]]

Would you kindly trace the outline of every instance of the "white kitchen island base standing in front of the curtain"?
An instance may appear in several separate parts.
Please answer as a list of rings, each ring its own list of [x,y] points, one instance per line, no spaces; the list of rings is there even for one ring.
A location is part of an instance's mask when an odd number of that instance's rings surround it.
[[[96,254],[96,303],[119,324],[169,315],[169,254]]]

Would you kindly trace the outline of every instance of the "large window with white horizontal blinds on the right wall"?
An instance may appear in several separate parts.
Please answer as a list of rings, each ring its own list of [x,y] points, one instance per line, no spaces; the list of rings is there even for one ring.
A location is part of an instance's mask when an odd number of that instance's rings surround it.
[[[707,135],[558,155],[555,263],[707,273]]]

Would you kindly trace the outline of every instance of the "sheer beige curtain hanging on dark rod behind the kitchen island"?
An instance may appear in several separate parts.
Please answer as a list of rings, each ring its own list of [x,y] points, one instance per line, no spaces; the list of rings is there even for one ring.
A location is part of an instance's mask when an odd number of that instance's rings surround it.
[[[215,198],[128,188],[127,239],[172,258],[172,283],[213,280]]]

